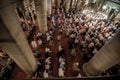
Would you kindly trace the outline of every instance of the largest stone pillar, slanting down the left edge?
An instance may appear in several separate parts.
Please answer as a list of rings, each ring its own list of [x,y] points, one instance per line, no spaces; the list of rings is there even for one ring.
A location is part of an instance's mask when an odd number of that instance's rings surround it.
[[[20,26],[14,5],[15,2],[12,3],[11,0],[1,0],[0,47],[25,73],[32,74],[37,63]]]

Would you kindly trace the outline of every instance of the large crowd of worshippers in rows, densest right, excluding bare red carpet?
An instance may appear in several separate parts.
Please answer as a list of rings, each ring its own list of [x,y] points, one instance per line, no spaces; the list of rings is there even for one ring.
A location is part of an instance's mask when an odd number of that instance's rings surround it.
[[[76,16],[76,14],[79,15]],[[52,76],[54,65],[52,64],[52,48],[55,46],[55,38],[59,42],[59,46],[57,46],[58,53],[56,54],[59,64],[58,77],[65,77],[67,57],[64,56],[64,47],[61,43],[63,35],[66,35],[68,39],[70,55],[75,57],[77,54],[76,48],[79,47],[84,53],[82,59],[86,62],[91,59],[101,47],[107,44],[120,29],[120,21],[115,22],[106,19],[97,19],[99,18],[98,16],[97,18],[91,18],[88,17],[87,14],[79,11],[76,12],[75,10],[66,12],[64,8],[53,8],[52,14],[47,17],[48,20],[51,21],[51,24],[45,34],[46,40],[42,39],[44,35],[41,32],[35,34],[34,37],[31,36],[30,45],[33,52],[37,52],[40,46],[47,44],[44,48],[45,54],[42,54],[45,56],[43,60],[44,63],[37,60],[38,69],[33,75],[33,78],[35,76],[44,78],[54,77]],[[58,34],[57,37],[54,35],[56,31]],[[76,77],[81,77],[79,62],[74,62],[72,67],[73,71],[78,74]],[[41,73],[42,70],[44,70],[43,73]]]

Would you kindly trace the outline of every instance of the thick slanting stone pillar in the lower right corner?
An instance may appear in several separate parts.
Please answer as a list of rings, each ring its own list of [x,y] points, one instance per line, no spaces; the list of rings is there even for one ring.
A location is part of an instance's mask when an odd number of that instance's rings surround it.
[[[118,63],[120,63],[120,32],[83,65],[83,71],[87,76],[99,75]]]

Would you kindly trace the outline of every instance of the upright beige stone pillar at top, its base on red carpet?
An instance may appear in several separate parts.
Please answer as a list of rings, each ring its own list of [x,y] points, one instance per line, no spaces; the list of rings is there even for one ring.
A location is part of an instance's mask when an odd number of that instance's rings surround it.
[[[39,29],[43,34],[45,34],[47,31],[46,0],[34,0],[34,2]]]

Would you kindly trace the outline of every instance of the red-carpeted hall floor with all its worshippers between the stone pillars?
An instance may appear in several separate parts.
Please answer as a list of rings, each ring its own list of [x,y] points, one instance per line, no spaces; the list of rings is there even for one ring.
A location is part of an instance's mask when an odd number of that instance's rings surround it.
[[[35,9],[29,11],[26,18],[22,9],[16,8],[38,65],[30,75],[32,79],[86,76],[83,64],[120,31],[120,20],[109,20],[103,13],[76,9],[66,12],[63,7],[52,7],[52,14],[47,15],[48,30],[43,34],[38,28]],[[120,66],[98,76],[114,74],[120,74]]]

